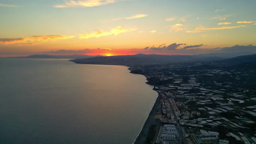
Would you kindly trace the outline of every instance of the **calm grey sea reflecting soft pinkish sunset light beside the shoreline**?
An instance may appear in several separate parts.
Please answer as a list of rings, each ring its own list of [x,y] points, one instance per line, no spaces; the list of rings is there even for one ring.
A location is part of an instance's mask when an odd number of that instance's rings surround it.
[[[0,143],[132,143],[157,93],[127,67],[0,58]]]

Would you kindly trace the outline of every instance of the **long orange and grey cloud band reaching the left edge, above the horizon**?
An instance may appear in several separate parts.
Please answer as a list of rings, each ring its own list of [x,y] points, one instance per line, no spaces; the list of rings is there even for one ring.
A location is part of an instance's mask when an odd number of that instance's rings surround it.
[[[72,35],[43,35],[43,36],[32,36],[29,38],[0,38],[0,43],[5,45],[29,45],[33,42],[41,42],[47,40],[56,40],[56,39],[70,39],[73,38]],[[27,42],[30,42],[29,44]]]

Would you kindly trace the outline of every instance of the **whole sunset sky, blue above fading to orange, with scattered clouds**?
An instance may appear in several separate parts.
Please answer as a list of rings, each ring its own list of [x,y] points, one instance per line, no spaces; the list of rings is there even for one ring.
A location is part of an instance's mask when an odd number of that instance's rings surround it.
[[[0,0],[0,57],[256,52],[255,0]]]

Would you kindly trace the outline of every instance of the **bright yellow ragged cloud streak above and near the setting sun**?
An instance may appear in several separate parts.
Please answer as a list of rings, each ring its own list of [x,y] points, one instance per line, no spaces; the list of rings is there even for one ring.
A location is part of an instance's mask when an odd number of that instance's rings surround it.
[[[135,31],[137,28],[127,28],[125,29],[124,26],[119,26],[116,28],[111,29],[109,32],[104,32],[104,31],[97,31],[94,33],[89,33],[89,34],[80,34],[79,38],[80,39],[88,39],[88,38],[92,38],[92,37],[102,37],[102,36],[107,36],[107,35],[118,35],[120,33],[124,33],[124,32],[131,32],[131,31]]]

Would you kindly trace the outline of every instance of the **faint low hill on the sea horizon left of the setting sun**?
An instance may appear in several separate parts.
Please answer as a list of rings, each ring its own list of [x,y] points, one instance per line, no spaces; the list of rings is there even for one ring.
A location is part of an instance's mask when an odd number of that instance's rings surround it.
[[[95,56],[88,55],[31,55],[26,58],[65,58],[65,59],[75,59],[75,58],[90,58]]]

